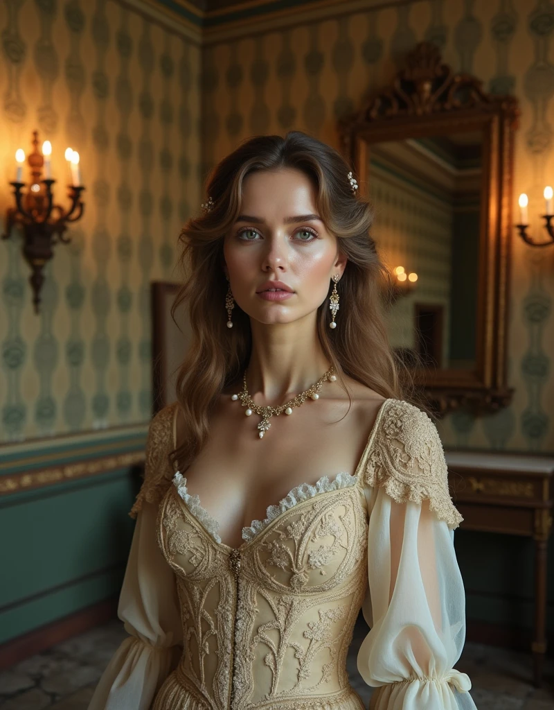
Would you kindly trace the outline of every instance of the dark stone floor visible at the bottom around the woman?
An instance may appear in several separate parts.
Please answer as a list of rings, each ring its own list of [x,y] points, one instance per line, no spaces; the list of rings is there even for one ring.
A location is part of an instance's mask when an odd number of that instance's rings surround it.
[[[351,683],[365,707],[372,689],[356,669],[356,655],[366,633],[360,620],[348,656]],[[113,621],[0,671],[1,710],[86,710],[101,672],[125,636],[123,625]],[[531,656],[523,653],[466,643],[455,667],[470,676],[478,710],[554,710],[551,657],[541,689],[533,687]]]

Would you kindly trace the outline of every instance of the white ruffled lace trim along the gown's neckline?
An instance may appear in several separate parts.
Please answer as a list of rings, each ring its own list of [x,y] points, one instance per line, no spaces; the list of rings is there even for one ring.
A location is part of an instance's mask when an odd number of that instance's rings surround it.
[[[267,508],[267,517],[264,520],[253,520],[250,525],[243,528],[242,537],[246,542],[253,540],[254,537],[260,534],[262,530],[267,528],[272,520],[278,518],[279,515],[284,513],[285,510],[290,510],[297,506],[301,501],[306,501],[309,498],[314,498],[319,493],[327,493],[328,491],[337,491],[339,488],[348,488],[349,486],[355,486],[358,482],[358,476],[351,476],[348,471],[340,471],[333,481],[330,481],[328,476],[321,476],[321,479],[316,481],[316,484],[312,486],[311,484],[300,484],[295,486],[292,490],[287,493],[287,496],[282,498],[277,506],[269,506]],[[214,540],[220,545],[221,537],[219,536],[219,523],[216,518],[213,518],[206,508],[204,508],[200,503],[200,498],[197,493],[190,495],[187,491],[187,479],[182,475],[180,471],[173,476],[173,484],[177,488],[177,493],[179,493],[180,498],[184,501],[189,509],[190,513],[194,515],[194,518],[199,520],[204,528],[208,530],[210,535],[214,537]]]

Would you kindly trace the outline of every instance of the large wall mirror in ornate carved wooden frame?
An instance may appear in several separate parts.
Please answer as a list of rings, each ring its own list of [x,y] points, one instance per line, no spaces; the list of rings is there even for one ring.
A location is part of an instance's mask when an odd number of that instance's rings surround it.
[[[514,97],[482,90],[421,43],[392,84],[340,121],[392,271],[389,337],[438,413],[509,404]]]

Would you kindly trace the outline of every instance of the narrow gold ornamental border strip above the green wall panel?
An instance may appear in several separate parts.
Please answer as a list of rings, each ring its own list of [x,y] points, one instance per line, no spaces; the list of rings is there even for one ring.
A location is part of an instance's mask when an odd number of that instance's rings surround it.
[[[60,481],[73,481],[86,476],[104,474],[115,471],[125,466],[140,464],[145,459],[144,451],[115,454],[90,461],[79,461],[65,466],[52,466],[49,469],[23,472],[13,476],[0,476],[0,496],[9,496],[11,493],[32,491],[35,488],[44,488]]]

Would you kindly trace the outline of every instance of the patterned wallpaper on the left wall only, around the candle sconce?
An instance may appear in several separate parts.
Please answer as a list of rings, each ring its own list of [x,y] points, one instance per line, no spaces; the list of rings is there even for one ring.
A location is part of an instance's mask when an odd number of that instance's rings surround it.
[[[0,241],[0,440],[150,418],[150,281],[174,278],[199,203],[199,38],[178,30],[111,0],[0,2],[0,220],[33,129],[52,142],[57,202],[67,146],[86,185],[40,315],[20,236]]]

